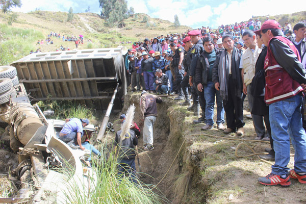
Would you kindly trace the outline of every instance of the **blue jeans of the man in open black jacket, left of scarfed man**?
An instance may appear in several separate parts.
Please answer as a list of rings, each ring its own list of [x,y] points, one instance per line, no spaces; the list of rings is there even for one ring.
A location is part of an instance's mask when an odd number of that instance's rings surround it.
[[[203,93],[202,93],[203,94]],[[224,108],[223,101],[220,96],[220,91],[215,89],[215,85],[213,82],[208,82],[206,86],[204,86],[204,97],[206,100],[206,124],[214,125],[214,109],[215,109],[215,96],[217,99],[217,124],[224,123]]]

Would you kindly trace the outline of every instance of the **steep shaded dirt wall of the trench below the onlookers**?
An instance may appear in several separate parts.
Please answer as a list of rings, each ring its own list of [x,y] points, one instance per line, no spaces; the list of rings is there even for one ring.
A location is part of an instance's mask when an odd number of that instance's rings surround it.
[[[190,134],[190,121],[185,121],[186,116],[192,113],[177,106],[173,97],[163,97],[163,102],[158,104],[158,117],[154,125],[154,147],[152,151],[143,151],[143,121],[140,115],[140,93],[127,94],[124,98],[122,113],[125,113],[131,104],[134,104],[134,121],[141,130],[139,138],[139,159],[141,164],[141,181],[145,184],[157,185],[174,160],[172,167],[163,181],[158,185],[162,192],[171,203],[191,203],[191,196],[196,196],[197,203],[205,203],[203,196],[206,187],[199,183],[200,175],[200,156],[189,148],[192,144]],[[179,156],[175,158],[183,141]],[[138,163],[136,162],[138,170]],[[201,195],[201,196],[198,196]],[[194,202],[192,202],[194,203]]]

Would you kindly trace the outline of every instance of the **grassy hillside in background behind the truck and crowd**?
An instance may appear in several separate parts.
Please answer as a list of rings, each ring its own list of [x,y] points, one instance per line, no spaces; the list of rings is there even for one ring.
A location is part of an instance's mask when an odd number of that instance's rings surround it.
[[[124,20],[123,28],[109,28],[100,15],[95,13],[74,14],[72,22],[67,21],[66,12],[33,11],[29,13],[0,13],[0,65],[8,64],[22,58],[30,53],[30,50],[40,48],[42,52],[55,51],[61,45],[75,48],[74,42],[62,41],[51,37],[54,44],[45,44],[45,39],[50,32],[60,33],[61,36],[84,36],[84,44],[79,45],[79,49],[117,47],[123,45],[130,48],[131,44],[120,42],[142,41],[144,38],[153,38],[158,35],[168,33],[183,33],[187,26],[174,27],[174,23],[160,18],[137,13]],[[266,16],[257,16],[262,22]],[[270,16],[282,25],[289,21],[293,25],[306,19],[306,11]],[[7,25],[11,20],[11,25]],[[237,20],[239,21],[239,20]],[[234,23],[234,22],[233,22]],[[92,42],[88,42],[88,40]],[[44,44],[37,44],[38,40],[43,40]]]

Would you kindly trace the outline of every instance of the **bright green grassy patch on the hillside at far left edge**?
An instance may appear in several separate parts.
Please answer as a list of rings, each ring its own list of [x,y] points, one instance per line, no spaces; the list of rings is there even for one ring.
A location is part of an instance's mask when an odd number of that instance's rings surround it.
[[[0,24],[0,33],[4,38],[0,44],[0,65],[29,55],[30,50],[35,49],[36,40],[44,38],[41,32],[34,29],[19,29],[6,24]]]

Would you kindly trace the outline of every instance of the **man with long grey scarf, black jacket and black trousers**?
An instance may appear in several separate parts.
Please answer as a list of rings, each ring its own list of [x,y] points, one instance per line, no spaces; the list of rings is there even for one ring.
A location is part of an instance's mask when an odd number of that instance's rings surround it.
[[[224,133],[236,132],[236,136],[244,134],[242,79],[239,69],[241,50],[234,47],[234,37],[222,37],[224,50],[217,56],[213,66],[213,82],[220,91],[226,114],[227,129]]]

